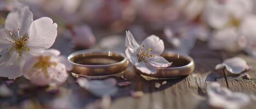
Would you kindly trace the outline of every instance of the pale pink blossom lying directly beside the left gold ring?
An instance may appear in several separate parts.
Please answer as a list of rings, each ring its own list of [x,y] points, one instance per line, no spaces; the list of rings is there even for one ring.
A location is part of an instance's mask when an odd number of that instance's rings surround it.
[[[64,56],[59,55],[60,51],[49,49],[30,57],[22,69],[24,76],[39,86],[65,82],[69,76],[67,70],[71,70],[72,65]]]

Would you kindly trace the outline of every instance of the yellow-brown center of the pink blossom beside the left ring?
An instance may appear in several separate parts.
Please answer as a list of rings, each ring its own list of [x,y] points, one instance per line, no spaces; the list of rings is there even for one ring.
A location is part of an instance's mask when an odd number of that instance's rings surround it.
[[[45,57],[39,56],[39,57],[38,57],[38,62],[33,66],[33,68],[41,69],[41,70],[44,72],[45,76],[46,76],[46,77],[49,77],[47,69],[48,69],[50,66],[52,66],[52,65],[53,65],[53,66],[56,66],[56,65],[57,65],[56,62],[50,61],[50,58],[51,58],[50,56],[45,56]],[[39,71],[39,72],[40,72],[40,71]]]

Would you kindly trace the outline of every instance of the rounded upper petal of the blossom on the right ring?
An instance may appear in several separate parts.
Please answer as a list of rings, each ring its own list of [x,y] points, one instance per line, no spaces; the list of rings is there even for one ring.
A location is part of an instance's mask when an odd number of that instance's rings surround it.
[[[151,53],[154,54],[155,56],[160,56],[160,54],[162,54],[164,50],[163,40],[157,37],[156,35],[150,35],[149,37],[147,37],[142,42],[140,47],[143,45],[145,45],[145,48],[147,49],[151,48],[152,49]]]

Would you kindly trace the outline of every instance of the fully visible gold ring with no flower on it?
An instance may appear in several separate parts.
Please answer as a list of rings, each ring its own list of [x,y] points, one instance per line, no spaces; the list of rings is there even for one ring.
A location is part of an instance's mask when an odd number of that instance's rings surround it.
[[[67,59],[73,64],[73,73],[85,76],[117,74],[126,70],[129,64],[124,53],[105,49],[73,52]]]

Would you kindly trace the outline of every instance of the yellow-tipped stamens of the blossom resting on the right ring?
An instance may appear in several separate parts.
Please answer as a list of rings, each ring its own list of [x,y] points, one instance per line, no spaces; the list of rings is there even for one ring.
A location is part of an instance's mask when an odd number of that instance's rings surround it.
[[[140,52],[138,54],[139,57],[139,62],[144,61],[144,60],[149,60],[153,57],[155,57],[152,53],[151,53],[152,49],[149,48],[145,48],[145,45],[141,46]]]

